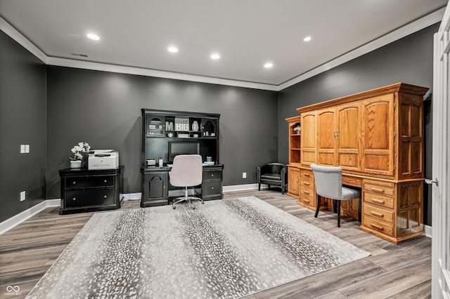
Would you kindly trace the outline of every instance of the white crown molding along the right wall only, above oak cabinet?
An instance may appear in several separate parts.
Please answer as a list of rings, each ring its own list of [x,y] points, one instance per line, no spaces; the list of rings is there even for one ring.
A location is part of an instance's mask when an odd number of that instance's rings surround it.
[[[317,74],[321,74],[322,72],[326,72],[333,67],[337,67],[338,65],[342,65],[345,62],[349,62],[354,58],[358,58],[361,55],[369,53],[373,50],[386,46],[387,44],[392,43],[393,41],[397,41],[409,34],[413,34],[414,32],[418,32],[421,29],[424,29],[428,26],[436,24],[442,20],[442,16],[444,15],[445,7],[438,9],[437,11],[425,15],[423,18],[415,20],[399,29],[396,29],[388,34],[381,36],[378,39],[375,39],[364,46],[360,46],[359,48],[354,49],[344,55],[341,55],[338,58],[330,60],[329,62],[320,65],[314,69],[311,69],[309,72],[305,72],[300,76],[297,76],[289,81],[285,81],[283,84],[278,85],[278,91],[282,91],[285,88],[293,86],[301,81],[309,79],[311,77],[316,76]]]

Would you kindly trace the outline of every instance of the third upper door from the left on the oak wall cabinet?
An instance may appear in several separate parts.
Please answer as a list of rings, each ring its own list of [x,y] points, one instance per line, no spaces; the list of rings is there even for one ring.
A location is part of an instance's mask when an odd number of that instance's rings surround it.
[[[336,109],[338,114],[338,165],[343,170],[359,171],[361,163],[359,152],[361,138],[359,126],[361,124],[360,103],[340,105]]]

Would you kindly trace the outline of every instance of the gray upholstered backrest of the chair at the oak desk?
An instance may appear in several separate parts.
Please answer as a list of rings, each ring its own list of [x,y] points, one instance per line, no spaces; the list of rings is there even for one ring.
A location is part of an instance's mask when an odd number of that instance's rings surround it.
[[[311,164],[316,182],[316,192],[321,197],[340,199],[342,197],[342,168]]]

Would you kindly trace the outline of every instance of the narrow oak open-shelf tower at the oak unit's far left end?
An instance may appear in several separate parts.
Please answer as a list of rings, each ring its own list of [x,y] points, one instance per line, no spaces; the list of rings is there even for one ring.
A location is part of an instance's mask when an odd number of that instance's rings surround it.
[[[289,117],[289,164],[288,164],[288,195],[298,197],[300,194],[300,117]]]

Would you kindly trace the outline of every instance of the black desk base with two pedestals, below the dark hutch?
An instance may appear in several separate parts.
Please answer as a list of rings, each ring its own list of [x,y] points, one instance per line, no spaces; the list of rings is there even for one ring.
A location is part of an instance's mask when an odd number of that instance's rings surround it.
[[[203,166],[202,185],[195,187],[195,192],[200,194],[203,200],[222,199],[222,173],[223,164]],[[141,166],[142,197],[141,207],[165,206],[173,197],[184,195],[180,189],[173,187],[169,182],[169,166]],[[201,188],[199,188],[201,187]]]

